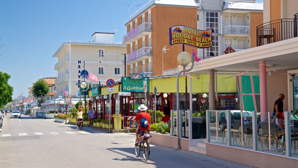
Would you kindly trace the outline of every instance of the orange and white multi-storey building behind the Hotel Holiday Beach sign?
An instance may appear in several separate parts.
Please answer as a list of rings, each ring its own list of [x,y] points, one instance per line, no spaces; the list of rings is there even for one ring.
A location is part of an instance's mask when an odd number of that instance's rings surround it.
[[[212,4],[212,5],[210,5]],[[177,13],[173,17],[170,13]],[[182,14],[183,13],[183,14]],[[253,17],[254,19],[249,19]],[[149,1],[131,15],[123,43],[127,44],[127,74],[146,77],[178,73],[176,55],[182,45],[169,45],[168,28],[186,25],[199,30],[212,29],[212,47],[195,49],[201,59],[224,54],[227,47],[235,51],[255,47],[254,27],[263,23],[263,3],[256,1],[200,0]],[[251,33],[252,32],[252,33]],[[162,48],[168,46],[167,53]],[[191,52],[189,46],[185,51]]]

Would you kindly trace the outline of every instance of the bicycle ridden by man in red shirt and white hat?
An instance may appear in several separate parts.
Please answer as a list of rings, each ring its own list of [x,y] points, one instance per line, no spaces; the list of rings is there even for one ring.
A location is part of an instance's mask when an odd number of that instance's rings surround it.
[[[147,130],[142,130],[140,132],[140,135],[143,135],[143,136],[139,138],[139,144],[135,145],[136,157],[138,158],[140,155],[140,152],[143,151],[143,157],[145,161],[147,161],[150,155],[150,145],[149,145],[148,139],[151,137],[151,135],[147,133]],[[137,138],[136,138],[136,142],[137,142]]]

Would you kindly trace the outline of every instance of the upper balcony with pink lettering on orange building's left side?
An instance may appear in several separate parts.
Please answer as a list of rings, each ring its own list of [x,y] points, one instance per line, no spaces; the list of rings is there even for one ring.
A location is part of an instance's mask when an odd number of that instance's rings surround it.
[[[123,43],[129,44],[137,39],[149,35],[152,32],[152,23],[142,23],[141,25],[137,26],[130,32],[128,32],[125,36],[123,36]]]

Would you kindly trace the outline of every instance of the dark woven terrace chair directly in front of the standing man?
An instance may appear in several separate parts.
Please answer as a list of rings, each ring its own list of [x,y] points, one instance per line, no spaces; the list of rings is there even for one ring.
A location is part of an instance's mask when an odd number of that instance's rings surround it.
[[[267,140],[270,139],[276,139],[276,152],[278,150],[278,138],[283,136],[283,133],[277,133],[277,126],[275,122],[270,122],[270,137],[269,137],[269,123],[268,122],[259,122],[261,128],[260,128],[260,137],[261,137],[261,149],[263,149],[263,140],[266,140],[267,149],[268,148],[268,142]]]

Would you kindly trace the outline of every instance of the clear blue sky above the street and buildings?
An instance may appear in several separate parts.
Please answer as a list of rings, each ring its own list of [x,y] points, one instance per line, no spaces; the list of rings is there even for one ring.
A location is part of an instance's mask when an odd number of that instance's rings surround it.
[[[38,79],[56,76],[52,55],[63,42],[92,41],[94,32],[115,32],[115,42],[126,34],[130,13],[149,0],[0,0],[0,71],[11,75],[13,98]]]

